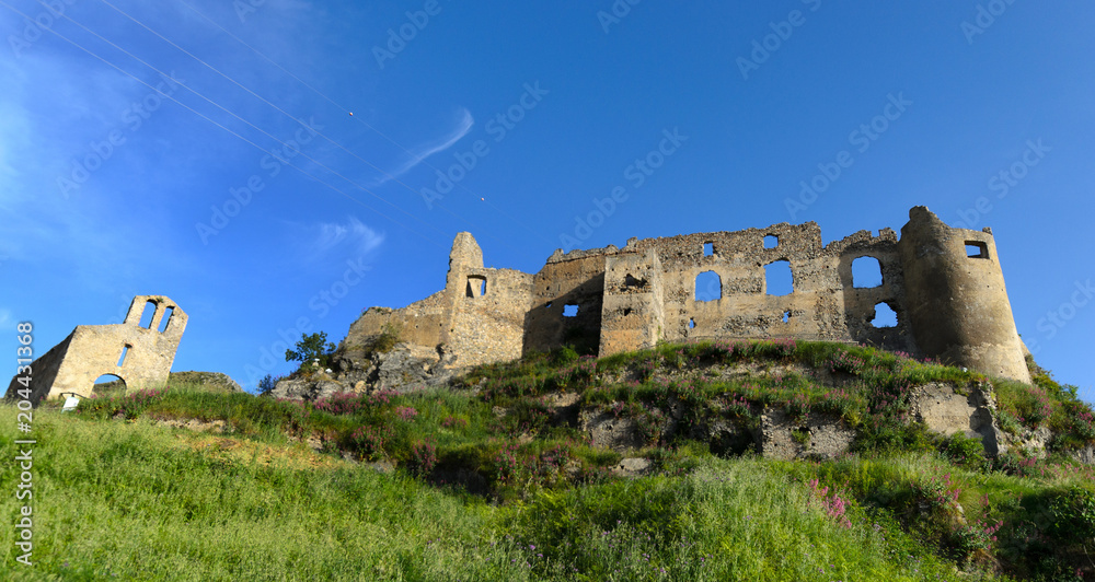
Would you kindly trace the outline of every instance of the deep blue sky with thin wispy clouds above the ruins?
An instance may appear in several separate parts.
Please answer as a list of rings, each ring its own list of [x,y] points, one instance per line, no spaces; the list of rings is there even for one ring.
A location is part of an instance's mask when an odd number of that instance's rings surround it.
[[[535,272],[924,205],[993,229],[1019,333],[1095,399],[1090,3],[47,4],[0,0],[0,328],[39,351],[165,294],[174,370],[253,388],[440,290],[460,231]]]

